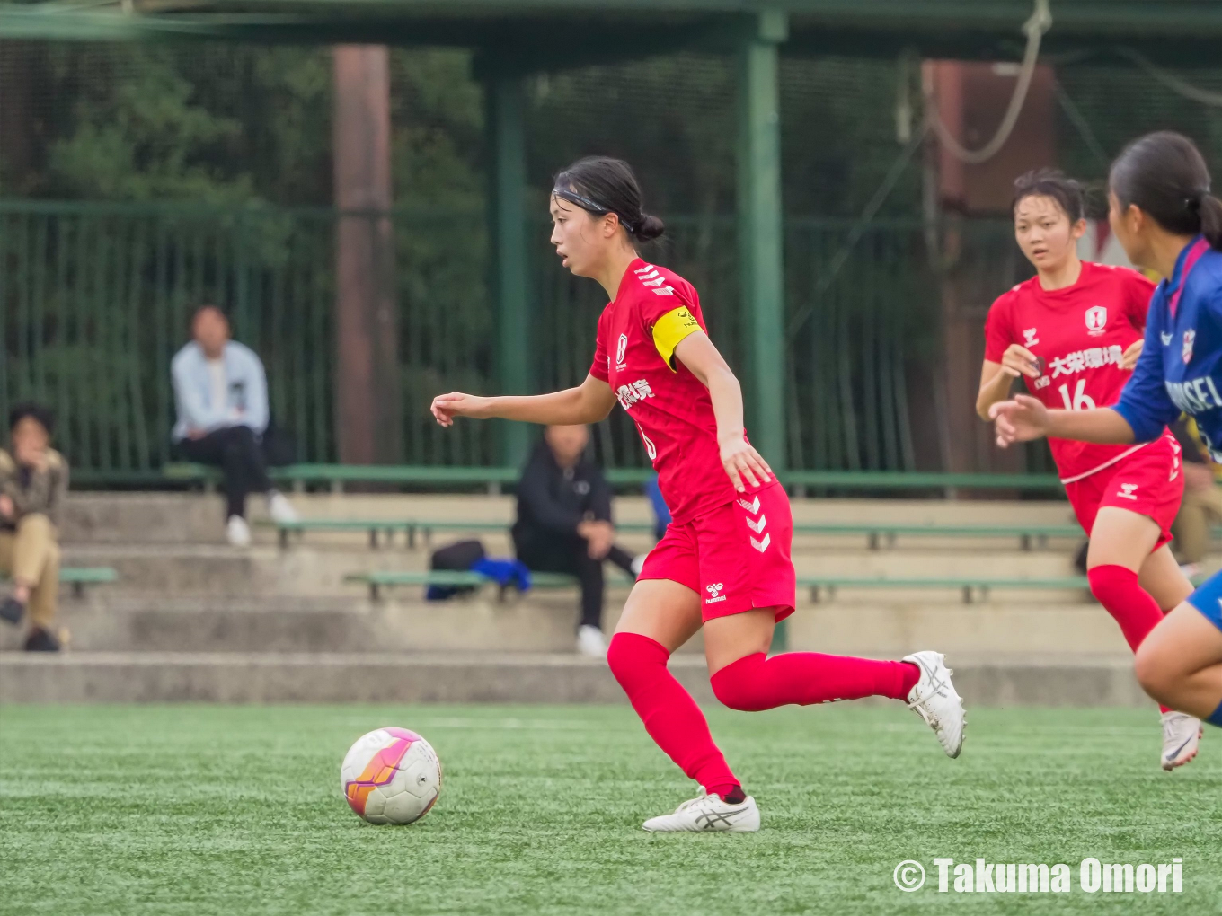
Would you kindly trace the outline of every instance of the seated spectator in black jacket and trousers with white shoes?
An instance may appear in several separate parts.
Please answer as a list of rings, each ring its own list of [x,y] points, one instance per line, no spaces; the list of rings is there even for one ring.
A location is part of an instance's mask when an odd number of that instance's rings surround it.
[[[585,457],[585,426],[549,426],[518,481],[513,547],[527,568],[568,573],[582,586],[577,651],[606,655],[602,639],[602,563],[633,574],[633,556],[615,546],[611,487]]]

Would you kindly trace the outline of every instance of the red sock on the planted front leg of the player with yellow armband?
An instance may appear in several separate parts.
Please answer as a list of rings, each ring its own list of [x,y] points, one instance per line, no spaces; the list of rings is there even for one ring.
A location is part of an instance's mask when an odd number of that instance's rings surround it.
[[[617,633],[607,646],[611,673],[657,746],[706,791],[737,787],[704,713],[667,671],[670,657],[664,645],[637,633]]]

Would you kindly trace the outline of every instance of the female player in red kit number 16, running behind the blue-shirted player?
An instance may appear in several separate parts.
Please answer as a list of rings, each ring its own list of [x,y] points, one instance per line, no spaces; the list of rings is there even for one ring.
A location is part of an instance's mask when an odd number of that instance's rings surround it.
[[[1121,397],[1136,365],[1154,283],[1127,267],[1078,258],[1086,228],[1080,186],[1059,172],[1014,182],[1014,234],[1036,275],[993,303],[976,412],[1009,398],[1023,377],[1048,407],[1091,410]],[[1135,652],[1193,592],[1167,546],[1184,495],[1179,445],[1163,430],[1128,446],[1048,440],[1061,482],[1090,535],[1086,578]],[[1199,719],[1162,707],[1162,767],[1196,756]]]

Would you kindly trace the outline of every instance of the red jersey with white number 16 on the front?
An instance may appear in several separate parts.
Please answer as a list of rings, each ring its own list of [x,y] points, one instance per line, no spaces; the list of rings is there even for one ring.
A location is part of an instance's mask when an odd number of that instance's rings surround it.
[[[1041,375],[1023,376],[1048,407],[1110,407],[1133,376],[1121,369],[1124,351],[1145,335],[1154,283],[1128,267],[1083,261],[1078,282],[1045,289],[1031,277],[998,297],[985,322],[985,359],[1000,363],[1018,343],[1036,357]],[[1101,446],[1050,438],[1063,482],[1080,480],[1143,446]]]

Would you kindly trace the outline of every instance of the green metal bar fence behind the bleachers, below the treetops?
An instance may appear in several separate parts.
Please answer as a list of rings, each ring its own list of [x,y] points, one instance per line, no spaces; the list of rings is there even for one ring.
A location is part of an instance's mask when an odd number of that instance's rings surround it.
[[[0,409],[27,397],[51,404],[59,443],[77,468],[155,470],[171,459],[170,360],[194,307],[215,302],[230,313],[235,337],[262,355],[273,415],[297,437],[301,458],[335,460],[337,219],[326,209],[0,202]],[[391,219],[403,459],[495,464],[495,426],[441,431],[428,413],[440,391],[497,390],[483,214],[396,210]],[[787,379],[788,462],[910,470],[909,379],[937,359],[938,277],[918,222],[873,225],[844,258],[849,230],[835,219],[786,226],[789,357],[777,371]],[[527,231],[538,237],[536,381],[540,390],[573,385],[589,369],[605,299],[560,267],[543,224]],[[714,341],[743,368],[734,221],[672,217],[668,236],[648,256],[695,283]],[[1009,244],[996,224],[975,226],[971,238],[985,249]],[[987,294],[1009,282],[995,277]],[[602,430],[602,457],[644,464],[621,413]]]

